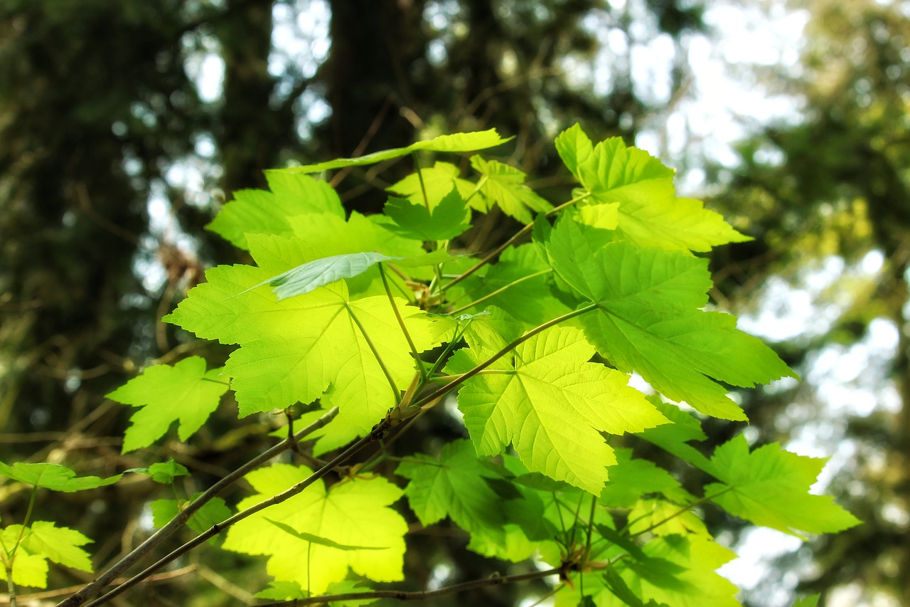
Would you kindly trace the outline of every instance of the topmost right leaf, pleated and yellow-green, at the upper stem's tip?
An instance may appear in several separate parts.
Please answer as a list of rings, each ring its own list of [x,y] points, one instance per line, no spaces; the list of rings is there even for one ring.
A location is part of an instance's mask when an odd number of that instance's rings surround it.
[[[642,149],[627,148],[614,137],[591,144],[575,124],[556,138],[556,150],[589,200],[619,203],[617,229],[642,246],[667,250],[711,251],[743,236],[702,201],[677,198],[673,171]]]

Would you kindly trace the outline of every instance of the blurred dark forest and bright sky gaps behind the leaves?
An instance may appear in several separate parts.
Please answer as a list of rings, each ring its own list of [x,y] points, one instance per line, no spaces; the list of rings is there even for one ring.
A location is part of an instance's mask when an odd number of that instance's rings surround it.
[[[173,455],[194,472],[187,493],[206,487],[268,445],[275,420],[238,424],[226,404],[189,444],[122,456],[127,412],[104,395],[152,361],[226,357],[157,319],[208,266],[246,261],[203,230],[231,191],[288,162],[495,127],[515,136],[501,159],[564,200],[551,141],[581,121],[662,156],[682,193],[753,236],[713,253],[714,304],[804,382],[739,395],[746,436],[833,456],[821,485],[866,521],[801,544],[706,511],[719,540],[763,555],[728,571],[743,602],[824,591],[827,605],[907,604],[908,43],[900,0],[4,0],[0,459],[107,475]],[[333,184],[375,211],[411,168]],[[491,214],[470,246],[489,249],[510,221]],[[403,448],[460,431],[441,412],[421,423]],[[742,429],[708,424],[718,442]],[[95,539],[101,567],[147,535],[156,490],[130,480],[37,508]],[[5,523],[26,506],[21,487],[0,486]],[[412,534],[402,587],[506,571],[465,543],[454,529]],[[117,604],[246,604],[266,584],[260,565],[217,550],[180,566]],[[51,584],[84,581],[54,571]]]

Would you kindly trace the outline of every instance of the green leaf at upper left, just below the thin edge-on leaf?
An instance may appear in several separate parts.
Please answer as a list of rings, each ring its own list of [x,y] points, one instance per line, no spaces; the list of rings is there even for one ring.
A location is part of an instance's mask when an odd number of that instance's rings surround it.
[[[329,213],[344,220],[339,195],[325,181],[308,175],[268,171],[268,190],[238,190],[206,226],[240,249],[247,250],[247,234],[293,233],[288,218]]]

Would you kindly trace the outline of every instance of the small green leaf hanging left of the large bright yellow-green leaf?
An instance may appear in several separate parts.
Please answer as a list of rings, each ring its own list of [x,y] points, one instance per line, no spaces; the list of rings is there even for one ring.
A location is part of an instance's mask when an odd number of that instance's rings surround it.
[[[123,440],[123,452],[148,447],[178,422],[177,436],[186,441],[215,412],[227,392],[221,369],[206,371],[206,361],[190,356],[176,365],[148,367],[107,395],[124,405],[140,407],[130,417]]]

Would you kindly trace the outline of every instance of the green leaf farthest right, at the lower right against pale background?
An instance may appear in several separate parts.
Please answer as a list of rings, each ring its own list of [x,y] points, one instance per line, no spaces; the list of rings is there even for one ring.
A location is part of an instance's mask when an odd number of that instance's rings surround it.
[[[750,453],[741,434],[714,450],[709,471],[722,482],[704,492],[734,516],[796,537],[849,529],[861,521],[832,498],[809,493],[825,461],[784,451],[777,443]]]

